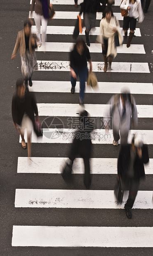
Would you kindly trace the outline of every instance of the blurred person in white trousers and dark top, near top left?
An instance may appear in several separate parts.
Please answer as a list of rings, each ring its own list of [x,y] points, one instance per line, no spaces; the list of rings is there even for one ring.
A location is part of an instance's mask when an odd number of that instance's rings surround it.
[[[31,3],[31,14],[35,10],[34,21],[36,26],[36,35],[38,37],[38,47],[41,46],[42,42],[46,42],[47,21],[49,19],[49,7],[50,0],[32,0]],[[42,39],[40,37],[41,25]]]

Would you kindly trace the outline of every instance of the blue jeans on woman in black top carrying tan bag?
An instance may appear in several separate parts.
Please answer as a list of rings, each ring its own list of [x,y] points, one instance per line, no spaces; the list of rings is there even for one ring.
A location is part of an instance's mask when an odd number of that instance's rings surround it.
[[[73,67],[75,74],[79,76],[80,80],[80,100],[83,100],[85,97],[85,81],[87,79],[88,70],[87,67]],[[76,79],[71,76],[71,85],[72,87],[75,87],[76,85]]]

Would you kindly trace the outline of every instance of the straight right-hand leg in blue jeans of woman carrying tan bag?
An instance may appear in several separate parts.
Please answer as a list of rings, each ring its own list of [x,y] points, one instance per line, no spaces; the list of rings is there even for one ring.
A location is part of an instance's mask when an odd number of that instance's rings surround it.
[[[87,79],[87,67],[85,68],[80,68],[79,72],[79,79],[80,79],[80,95],[79,95],[79,99],[80,99],[80,104],[83,104],[83,100],[85,97],[85,81]]]

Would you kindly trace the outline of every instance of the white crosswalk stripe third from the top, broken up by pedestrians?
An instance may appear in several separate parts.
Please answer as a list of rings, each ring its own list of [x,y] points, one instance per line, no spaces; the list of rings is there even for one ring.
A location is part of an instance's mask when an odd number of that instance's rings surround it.
[[[74,31],[74,26],[47,26],[47,34],[52,34],[52,35],[73,35]],[[124,32],[122,31],[122,28],[120,28],[122,35],[124,36]],[[36,26],[31,27],[32,33],[36,33]],[[85,34],[85,28],[82,28],[82,34]],[[128,30],[129,34],[129,30]],[[141,36],[140,33],[140,28],[136,28],[135,30],[135,36]],[[90,35],[92,36],[98,36],[100,35],[100,28],[95,27],[94,29],[92,28],[90,31]]]

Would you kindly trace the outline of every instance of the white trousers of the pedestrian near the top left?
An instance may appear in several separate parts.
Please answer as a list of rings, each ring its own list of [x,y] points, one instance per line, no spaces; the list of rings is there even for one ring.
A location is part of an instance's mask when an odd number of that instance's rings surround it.
[[[36,35],[38,37],[38,44],[41,42],[46,42],[46,30],[47,30],[47,19],[44,19],[43,15],[34,13],[34,21],[35,21],[35,26],[36,26]],[[42,40],[40,38],[40,26],[42,25]]]

